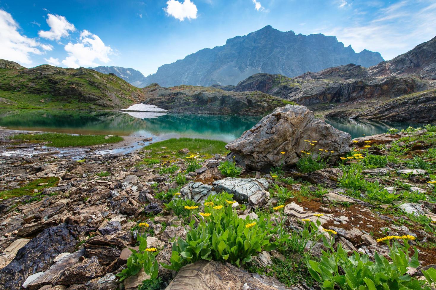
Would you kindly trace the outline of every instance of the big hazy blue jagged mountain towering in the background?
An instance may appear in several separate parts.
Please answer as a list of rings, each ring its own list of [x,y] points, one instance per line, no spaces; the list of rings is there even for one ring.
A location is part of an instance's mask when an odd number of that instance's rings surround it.
[[[146,77],[143,85],[236,85],[255,73],[293,77],[346,63],[369,67],[380,61],[383,61],[380,53],[368,50],[355,53],[336,37],[296,35],[293,31],[282,32],[267,26],[229,39],[224,46],[199,50],[183,60],[165,64],[157,73]]]

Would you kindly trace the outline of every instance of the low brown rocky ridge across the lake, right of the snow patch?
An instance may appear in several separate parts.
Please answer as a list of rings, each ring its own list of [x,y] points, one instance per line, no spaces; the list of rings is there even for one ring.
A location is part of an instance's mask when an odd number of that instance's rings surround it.
[[[143,103],[176,113],[262,115],[290,103],[262,92],[228,92],[212,87],[166,88],[155,83],[143,92]]]

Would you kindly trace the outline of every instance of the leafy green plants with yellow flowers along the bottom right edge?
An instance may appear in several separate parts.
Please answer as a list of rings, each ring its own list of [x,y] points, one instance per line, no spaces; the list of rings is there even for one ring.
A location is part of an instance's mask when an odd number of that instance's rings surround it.
[[[329,230],[327,230],[329,231]],[[411,236],[386,237],[389,247],[389,257],[392,263],[383,256],[374,254],[375,261],[371,261],[366,254],[356,251],[349,257],[341,243],[337,250],[333,248],[334,237],[331,231],[329,238],[323,236],[324,246],[327,251],[322,251],[320,261],[307,260],[309,273],[320,287],[325,290],[333,289],[422,289],[425,281],[414,280],[407,274],[408,267],[419,266],[418,250],[414,248],[414,255],[409,261],[408,240],[414,239]],[[403,240],[400,244],[396,239]],[[392,244],[390,240],[393,239]],[[429,289],[429,288],[425,288]]]

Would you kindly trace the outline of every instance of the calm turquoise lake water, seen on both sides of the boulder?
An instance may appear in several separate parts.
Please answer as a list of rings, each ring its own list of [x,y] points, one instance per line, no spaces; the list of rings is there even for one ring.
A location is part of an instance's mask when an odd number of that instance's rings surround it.
[[[131,115],[130,115],[131,114]],[[201,114],[121,113],[78,110],[0,110],[0,126],[16,130],[76,134],[153,137],[199,137],[229,142],[254,126],[261,117]],[[327,118],[326,122],[353,138],[385,133],[389,128],[418,127],[417,123]]]

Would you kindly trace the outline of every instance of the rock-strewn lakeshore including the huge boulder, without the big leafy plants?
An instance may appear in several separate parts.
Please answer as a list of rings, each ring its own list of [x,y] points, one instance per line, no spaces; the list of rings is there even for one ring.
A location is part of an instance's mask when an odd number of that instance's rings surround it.
[[[174,258],[173,243],[187,239],[191,229],[202,221],[194,212],[177,214],[177,208],[170,207],[169,202],[190,200],[200,207],[195,210],[205,210],[204,202],[221,191],[233,194],[228,206],[247,222],[254,221],[260,227],[259,216],[271,216],[275,224],[296,234],[305,229],[304,220],[319,220],[318,230],[336,233],[335,248],[340,243],[345,250],[366,254],[369,259],[374,259],[376,252],[388,256],[388,247],[378,243],[378,238],[411,235],[414,238],[409,242],[419,250],[419,267],[410,268],[410,274],[422,279],[421,269],[435,267],[432,264],[436,260],[436,250],[431,246],[436,242],[435,194],[432,184],[427,183],[432,180],[434,167],[410,168],[409,161],[419,157],[433,166],[434,161],[426,156],[436,150],[434,133],[409,130],[351,140],[349,134],[329,126],[314,119],[305,107],[288,105],[230,143],[228,156],[189,152],[183,147],[180,152],[159,148],[124,155],[92,151],[81,160],[57,156],[56,149],[47,154],[35,150],[26,156],[0,155],[0,288],[138,289],[150,278],[144,271],[122,282],[116,274],[126,269],[132,253],[129,248],[139,246],[141,223],[146,223],[144,237],[147,247],[157,250],[162,289],[315,289],[318,283],[308,279],[307,269],[294,269],[306,276],[296,274],[297,280],[292,283],[272,269],[291,261],[305,264],[303,253],[313,259],[320,257],[321,250],[326,250],[320,240],[308,243],[306,250],[292,257],[290,251],[280,252],[279,248],[261,250],[244,267],[215,259],[188,263],[178,272],[163,267]],[[5,139],[13,132],[0,131],[2,152],[17,150],[14,146],[20,145],[11,145]],[[37,149],[41,145],[23,146]],[[380,182],[381,187],[394,193],[404,189],[402,202],[371,200],[368,193],[352,193],[341,185],[346,168],[364,164],[358,154],[364,156],[362,159],[371,156],[365,160],[378,160],[391,156],[395,148],[404,152],[383,165],[362,168],[361,179]],[[167,155],[151,162],[157,150]],[[306,157],[303,154],[313,158],[331,155],[330,164],[326,162],[318,170],[301,170],[298,162]],[[233,159],[245,170],[241,175],[226,177],[218,166]],[[191,160],[198,164],[194,170],[190,169]],[[346,167],[341,167],[342,163]],[[260,169],[266,167],[276,169],[261,173]],[[176,178],[179,176],[181,180]],[[405,192],[422,193],[422,200],[412,202],[405,198]],[[286,220],[281,220],[282,214]],[[251,223],[248,225],[251,227]],[[271,243],[277,238],[272,237]]]

